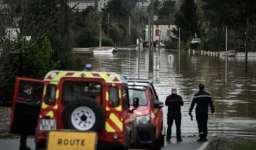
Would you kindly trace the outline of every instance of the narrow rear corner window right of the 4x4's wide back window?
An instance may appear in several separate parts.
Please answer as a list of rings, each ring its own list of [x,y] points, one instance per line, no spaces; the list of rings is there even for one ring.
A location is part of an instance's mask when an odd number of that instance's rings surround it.
[[[109,103],[112,108],[119,106],[119,94],[116,86],[111,86],[109,89]]]

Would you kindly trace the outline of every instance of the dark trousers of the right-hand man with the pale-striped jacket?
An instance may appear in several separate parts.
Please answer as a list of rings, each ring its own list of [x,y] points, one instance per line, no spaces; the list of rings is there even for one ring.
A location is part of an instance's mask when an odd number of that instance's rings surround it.
[[[198,132],[200,138],[206,138],[208,129],[208,113],[196,113],[196,121],[198,122]]]

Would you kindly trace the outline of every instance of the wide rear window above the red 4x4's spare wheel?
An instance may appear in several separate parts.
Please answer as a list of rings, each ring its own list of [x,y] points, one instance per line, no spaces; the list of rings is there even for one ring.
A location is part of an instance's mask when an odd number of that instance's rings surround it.
[[[102,84],[88,81],[65,81],[63,83],[63,105],[83,98],[91,98],[102,103]]]

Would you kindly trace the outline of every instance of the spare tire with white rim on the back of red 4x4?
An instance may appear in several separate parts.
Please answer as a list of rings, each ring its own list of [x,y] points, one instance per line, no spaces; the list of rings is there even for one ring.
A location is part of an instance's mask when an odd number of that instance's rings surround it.
[[[100,132],[104,123],[102,106],[92,98],[75,100],[63,110],[63,125],[66,129]]]

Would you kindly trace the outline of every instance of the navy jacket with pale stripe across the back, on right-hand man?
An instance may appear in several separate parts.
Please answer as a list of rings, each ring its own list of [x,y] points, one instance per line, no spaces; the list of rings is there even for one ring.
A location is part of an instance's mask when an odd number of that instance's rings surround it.
[[[214,113],[214,105],[213,100],[210,96],[210,93],[206,91],[198,91],[193,96],[193,100],[191,103],[191,107],[189,108],[189,112],[193,110],[194,105],[196,104],[196,113],[208,113],[208,105],[210,105],[211,113]]]

